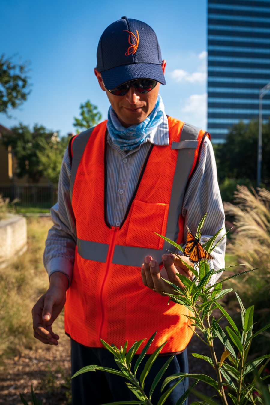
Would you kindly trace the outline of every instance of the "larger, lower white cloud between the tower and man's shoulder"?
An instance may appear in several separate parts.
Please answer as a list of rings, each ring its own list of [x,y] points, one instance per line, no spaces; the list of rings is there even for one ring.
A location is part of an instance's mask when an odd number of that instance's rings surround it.
[[[207,93],[192,94],[187,98],[185,107],[182,111],[185,113],[187,122],[205,129],[206,127],[206,109],[207,109]]]

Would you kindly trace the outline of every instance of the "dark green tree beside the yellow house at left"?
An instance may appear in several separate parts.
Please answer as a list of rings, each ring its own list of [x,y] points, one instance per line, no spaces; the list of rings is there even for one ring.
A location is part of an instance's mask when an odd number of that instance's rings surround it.
[[[38,183],[40,177],[44,175],[40,168],[40,158],[38,152],[43,153],[46,143],[51,142],[53,131],[47,130],[43,125],[35,124],[31,130],[29,126],[14,126],[11,128],[12,134],[2,134],[2,143],[8,148],[11,145],[17,159],[18,177],[28,175],[33,183]]]

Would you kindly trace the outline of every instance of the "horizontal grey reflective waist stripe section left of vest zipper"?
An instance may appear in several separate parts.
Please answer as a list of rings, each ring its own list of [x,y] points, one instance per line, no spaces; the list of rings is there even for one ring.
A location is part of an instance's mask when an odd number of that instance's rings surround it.
[[[106,263],[109,245],[77,239],[78,253],[83,259]]]

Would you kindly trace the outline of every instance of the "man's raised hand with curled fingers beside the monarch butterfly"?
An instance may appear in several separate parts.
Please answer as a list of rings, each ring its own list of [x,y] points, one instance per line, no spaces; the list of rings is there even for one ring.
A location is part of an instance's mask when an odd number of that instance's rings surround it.
[[[182,260],[193,267],[193,264],[189,261],[189,258],[181,256]],[[151,256],[145,257],[145,262],[142,264],[142,282],[145,286],[151,288],[151,290],[158,292],[161,295],[175,294],[175,288],[169,283],[166,283],[162,278],[174,283],[177,287],[183,289],[185,286],[176,275],[176,273],[192,280],[193,274],[174,254],[164,254],[162,256],[162,262],[164,267],[159,270],[159,264],[156,260],[153,260]],[[164,294],[165,293],[165,294]]]

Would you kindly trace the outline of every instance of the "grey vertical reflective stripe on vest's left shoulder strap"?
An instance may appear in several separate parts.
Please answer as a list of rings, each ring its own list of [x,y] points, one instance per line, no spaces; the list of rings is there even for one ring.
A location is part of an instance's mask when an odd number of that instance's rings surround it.
[[[86,144],[89,140],[89,137],[95,127],[89,128],[84,132],[81,132],[72,143],[72,165],[71,165],[71,176],[70,176],[70,201],[72,201],[72,192],[73,192],[73,185],[76,177],[76,173],[81,162],[81,158],[83,156],[83,152],[85,150]]]

